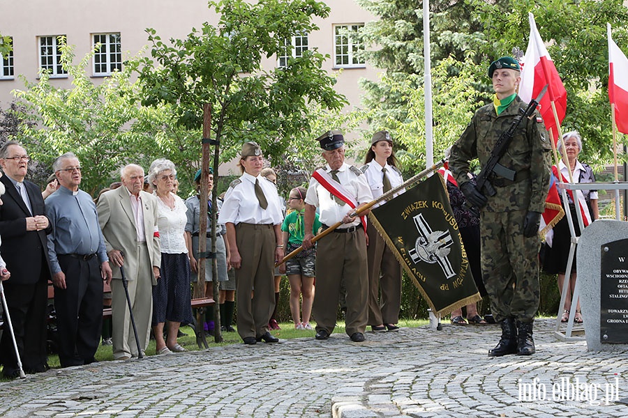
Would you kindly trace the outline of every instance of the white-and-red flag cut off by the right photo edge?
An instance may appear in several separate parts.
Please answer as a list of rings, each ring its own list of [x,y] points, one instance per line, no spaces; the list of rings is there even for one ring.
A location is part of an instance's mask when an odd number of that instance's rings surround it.
[[[615,107],[617,130],[628,134],[628,58],[611,38],[611,24],[608,31],[608,99]]]

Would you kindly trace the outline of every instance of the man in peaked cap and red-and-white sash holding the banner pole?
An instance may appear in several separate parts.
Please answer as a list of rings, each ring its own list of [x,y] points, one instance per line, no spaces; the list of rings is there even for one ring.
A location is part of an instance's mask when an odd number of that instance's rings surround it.
[[[345,163],[343,134],[332,130],[317,139],[327,166],[318,169],[323,178],[334,187],[340,187],[343,196],[356,207],[373,200],[365,176],[356,167]],[[339,196],[332,195],[314,176],[306,194],[304,216],[304,248],[312,247],[312,225],[316,208],[320,208],[320,222],[329,228],[337,222],[342,225],[321,238],[316,251],[316,295],[313,314],[316,318],[316,339],[327,339],[336,326],[338,297],[341,281],[345,283],[347,314],[345,331],[354,342],[364,341],[366,328],[368,266],[366,264],[366,235],[359,217]],[[363,214],[364,215],[364,214]]]

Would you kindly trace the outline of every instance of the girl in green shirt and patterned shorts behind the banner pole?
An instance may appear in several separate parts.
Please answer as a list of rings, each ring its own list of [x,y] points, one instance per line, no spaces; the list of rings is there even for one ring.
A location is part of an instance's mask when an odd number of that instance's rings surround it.
[[[304,212],[305,195],[304,187],[295,187],[290,190],[288,207],[292,212],[288,213],[283,220],[281,231],[283,231],[283,245],[285,254],[301,247],[304,233]],[[320,229],[318,215],[314,217],[313,231],[316,235]],[[314,302],[314,277],[315,277],[315,247],[306,249],[285,262],[285,274],[290,281],[290,312],[292,320],[297,330],[313,330],[310,325],[310,315],[312,313],[312,303]],[[299,317],[299,298],[303,295],[301,310],[303,311],[303,322]]]

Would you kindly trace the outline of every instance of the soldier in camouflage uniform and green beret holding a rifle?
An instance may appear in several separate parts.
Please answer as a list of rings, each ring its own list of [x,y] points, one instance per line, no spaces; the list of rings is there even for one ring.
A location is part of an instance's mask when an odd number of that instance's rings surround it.
[[[478,109],[451,148],[449,168],[468,203],[480,208],[482,279],[491,296],[491,311],[502,327],[502,337],[491,357],[534,353],[532,323],[539,308],[538,234],[541,212],[550,183],[551,144],[538,113],[521,121],[500,164],[516,171],[514,180],[495,174],[495,196],[484,196],[468,172],[470,160],[481,167],[491,157],[502,132],[527,104],[516,95],[519,65],[509,56],[491,63],[493,103]]]

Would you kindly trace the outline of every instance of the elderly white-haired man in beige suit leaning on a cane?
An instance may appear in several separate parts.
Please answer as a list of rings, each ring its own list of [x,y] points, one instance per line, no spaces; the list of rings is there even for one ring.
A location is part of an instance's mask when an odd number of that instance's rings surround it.
[[[98,222],[105,236],[112,265],[113,354],[115,359],[136,357],[137,343],[130,329],[120,267],[128,279],[128,293],[133,305],[137,337],[142,351],[149,343],[153,312],[152,286],[157,284],[161,250],[157,231],[157,201],[144,186],[144,169],[128,164],[121,169],[124,187],[105,192],[98,199]],[[124,254],[123,254],[124,253]]]

